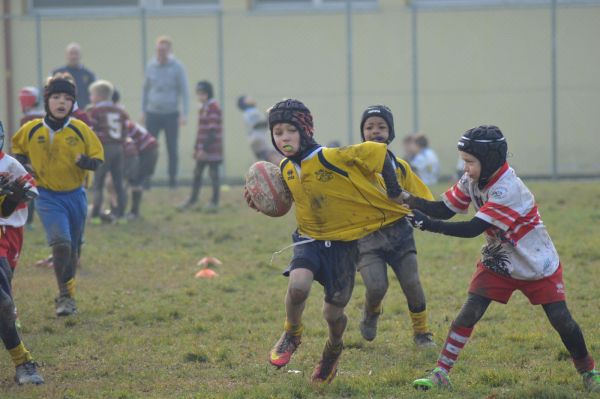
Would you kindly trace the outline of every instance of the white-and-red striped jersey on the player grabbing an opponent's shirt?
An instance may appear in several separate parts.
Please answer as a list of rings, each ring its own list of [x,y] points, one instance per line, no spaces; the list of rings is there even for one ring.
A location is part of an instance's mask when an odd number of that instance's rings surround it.
[[[442,199],[456,213],[467,213],[472,203],[475,217],[493,225],[485,231],[484,266],[519,280],[539,280],[558,268],[535,198],[508,163],[483,189],[464,174]]]

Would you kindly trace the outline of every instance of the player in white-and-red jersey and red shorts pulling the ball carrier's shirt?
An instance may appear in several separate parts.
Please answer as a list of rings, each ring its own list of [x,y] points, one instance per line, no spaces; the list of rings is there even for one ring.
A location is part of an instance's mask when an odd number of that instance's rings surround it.
[[[458,151],[465,161],[465,174],[443,194],[442,201],[403,195],[413,210],[410,220],[414,227],[454,237],[485,234],[486,238],[467,300],[450,326],[437,367],[425,378],[415,380],[413,386],[450,389],[448,374],[489,304],[505,304],[513,291],[520,290],[531,304],[542,305],[581,374],[584,387],[600,392],[600,373],[567,308],[558,253],[533,194],[506,162],[504,135],[491,125],[470,129],[459,140]],[[456,213],[466,213],[470,203],[477,211],[470,221],[451,223],[429,217],[449,219]]]

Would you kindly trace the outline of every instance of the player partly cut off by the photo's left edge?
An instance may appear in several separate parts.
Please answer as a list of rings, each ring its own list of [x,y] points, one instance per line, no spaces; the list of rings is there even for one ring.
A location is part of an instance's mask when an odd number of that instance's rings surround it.
[[[21,164],[4,153],[4,127],[0,121],[0,338],[16,367],[15,382],[39,385],[44,379],[21,341],[16,326],[12,278],[23,244],[26,202],[37,195],[33,178]]]

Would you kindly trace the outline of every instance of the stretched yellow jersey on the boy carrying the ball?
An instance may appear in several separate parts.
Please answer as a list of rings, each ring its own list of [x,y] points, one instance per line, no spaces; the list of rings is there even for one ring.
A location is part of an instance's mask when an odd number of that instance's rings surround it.
[[[406,215],[388,199],[378,174],[387,146],[365,142],[341,148],[319,147],[300,165],[280,166],[296,204],[298,231],[317,240],[357,240]]]

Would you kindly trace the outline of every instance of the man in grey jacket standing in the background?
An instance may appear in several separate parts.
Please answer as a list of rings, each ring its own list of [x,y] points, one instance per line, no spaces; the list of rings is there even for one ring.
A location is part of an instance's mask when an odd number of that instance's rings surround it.
[[[146,128],[158,138],[161,130],[167,138],[169,187],[177,185],[179,125],[184,125],[189,111],[189,91],[185,69],[171,54],[172,42],[166,36],[156,40],[156,58],[146,66],[142,119]],[[179,103],[181,100],[181,111]]]

